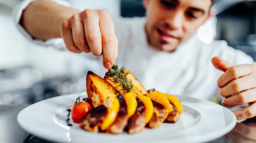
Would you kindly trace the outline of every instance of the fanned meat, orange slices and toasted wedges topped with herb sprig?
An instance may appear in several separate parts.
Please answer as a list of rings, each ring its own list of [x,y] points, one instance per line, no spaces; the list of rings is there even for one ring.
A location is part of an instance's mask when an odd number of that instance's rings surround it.
[[[146,90],[130,71],[117,65],[104,78],[88,71],[86,86],[88,99],[82,103],[87,111],[82,113],[79,126],[90,132],[133,134],[145,127],[159,127],[163,122],[175,123],[182,113],[177,97]]]

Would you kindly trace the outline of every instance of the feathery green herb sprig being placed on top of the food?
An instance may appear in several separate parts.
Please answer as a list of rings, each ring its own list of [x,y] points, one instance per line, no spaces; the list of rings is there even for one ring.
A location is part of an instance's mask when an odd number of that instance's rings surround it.
[[[126,72],[123,74],[123,71],[125,70],[125,67],[122,66],[120,69],[118,68],[118,65],[113,65],[111,69],[109,69],[109,72],[107,73],[108,76],[112,77],[112,81],[115,83],[119,83],[118,86],[122,87],[121,90],[117,90],[118,92],[123,92],[123,95],[128,92],[131,92],[133,85],[131,79],[129,80],[127,78],[127,75],[129,74]]]

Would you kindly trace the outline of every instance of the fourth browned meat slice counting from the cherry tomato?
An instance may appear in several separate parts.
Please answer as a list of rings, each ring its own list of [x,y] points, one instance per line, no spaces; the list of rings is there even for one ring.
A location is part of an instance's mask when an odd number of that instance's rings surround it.
[[[152,103],[153,103],[154,112],[153,112],[152,118],[150,119],[150,121],[147,124],[147,126],[149,128],[155,128],[155,127],[160,126],[166,116],[166,110],[163,105],[161,105],[160,103],[157,103],[153,100],[152,100]]]

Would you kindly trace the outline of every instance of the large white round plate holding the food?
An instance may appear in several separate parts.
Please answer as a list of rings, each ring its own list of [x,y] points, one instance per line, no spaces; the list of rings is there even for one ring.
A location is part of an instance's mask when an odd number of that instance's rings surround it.
[[[184,111],[174,124],[163,123],[158,128],[145,128],[136,134],[91,133],[79,128],[78,124],[73,123],[70,127],[65,122],[67,109],[72,108],[79,96],[83,98],[87,97],[87,94],[62,95],[30,105],[18,114],[18,123],[27,132],[38,137],[55,142],[74,143],[207,142],[227,134],[236,124],[233,112],[221,105],[206,100],[177,96]]]

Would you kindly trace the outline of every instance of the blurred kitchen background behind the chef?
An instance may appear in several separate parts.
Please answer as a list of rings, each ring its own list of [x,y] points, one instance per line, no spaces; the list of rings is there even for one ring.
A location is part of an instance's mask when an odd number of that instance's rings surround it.
[[[32,104],[85,92],[85,76],[91,67],[85,67],[82,56],[35,45],[18,32],[11,14],[20,1],[0,0],[0,104]],[[86,7],[77,8],[105,9],[112,16],[145,15],[142,0],[87,1]],[[213,10],[216,16],[200,27],[198,37],[206,43],[226,40],[256,61],[256,1],[217,0]]]

